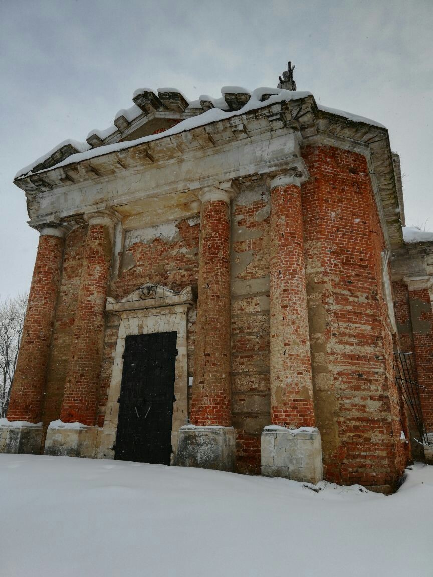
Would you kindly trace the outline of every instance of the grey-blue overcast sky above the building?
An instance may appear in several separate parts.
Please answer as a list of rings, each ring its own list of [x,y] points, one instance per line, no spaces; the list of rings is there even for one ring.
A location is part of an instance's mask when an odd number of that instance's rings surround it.
[[[406,224],[433,230],[433,0],[0,0],[0,297],[28,290],[38,245],[18,168],[136,88],[277,86],[289,59],[298,90],[387,126]]]

